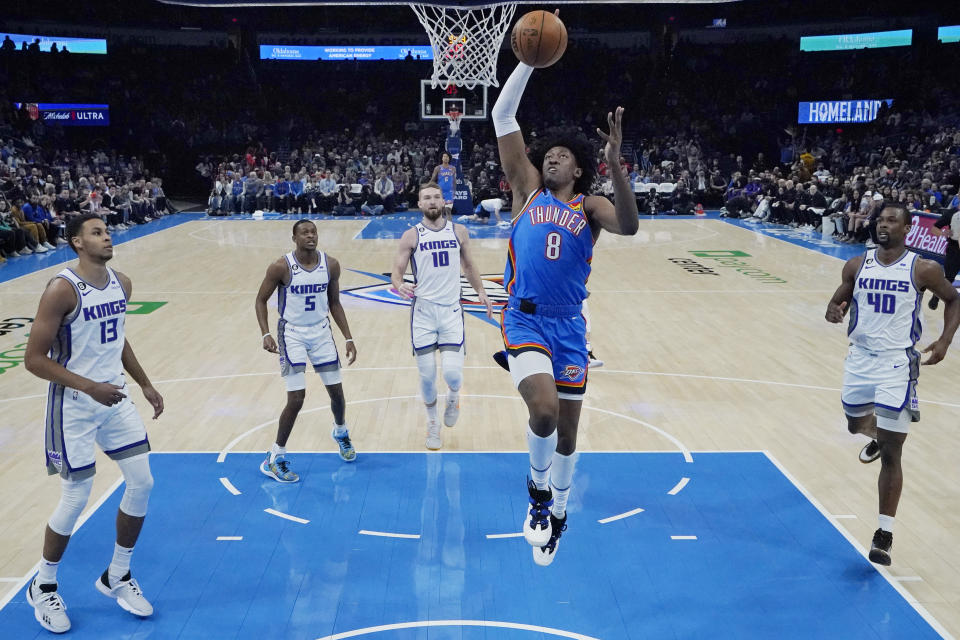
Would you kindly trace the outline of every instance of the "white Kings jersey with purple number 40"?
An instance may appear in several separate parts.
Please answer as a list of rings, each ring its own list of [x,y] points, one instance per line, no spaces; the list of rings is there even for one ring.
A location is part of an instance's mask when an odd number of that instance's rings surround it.
[[[892,351],[917,343],[923,331],[923,294],[913,276],[918,259],[916,253],[904,251],[893,264],[884,265],[877,260],[876,249],[867,251],[853,283],[847,329],[853,344],[870,351]]]

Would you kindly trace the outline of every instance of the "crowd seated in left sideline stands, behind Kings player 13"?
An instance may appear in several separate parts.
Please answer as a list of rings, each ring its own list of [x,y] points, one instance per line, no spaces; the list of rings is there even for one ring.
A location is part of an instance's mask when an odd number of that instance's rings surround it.
[[[135,156],[0,138],[0,261],[66,244],[66,223],[81,213],[125,231],[169,211],[163,180]]]

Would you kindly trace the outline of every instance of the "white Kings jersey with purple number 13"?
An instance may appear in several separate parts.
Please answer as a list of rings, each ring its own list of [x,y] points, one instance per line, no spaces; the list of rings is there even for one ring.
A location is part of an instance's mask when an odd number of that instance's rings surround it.
[[[107,273],[110,281],[102,289],[69,267],[56,275],[73,285],[77,306],[60,325],[50,357],[95,382],[113,382],[123,374],[127,296],[116,272],[108,267]]]

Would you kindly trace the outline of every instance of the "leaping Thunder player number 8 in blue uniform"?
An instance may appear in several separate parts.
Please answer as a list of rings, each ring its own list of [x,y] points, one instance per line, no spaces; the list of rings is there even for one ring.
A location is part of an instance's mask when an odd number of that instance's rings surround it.
[[[510,374],[530,418],[527,443],[530,508],[523,533],[539,565],[553,561],[567,527],[566,504],[576,464],[577,424],[587,385],[587,296],[593,245],[603,230],[633,235],[639,220],[627,179],[612,172],[616,206],[587,195],[595,154],[575,136],[545,140],[527,156],[516,113],[533,67],[520,63],[493,107],[500,163],[513,188],[513,230],[503,282],[503,341]],[[607,115],[604,157],[620,162],[623,108]]]

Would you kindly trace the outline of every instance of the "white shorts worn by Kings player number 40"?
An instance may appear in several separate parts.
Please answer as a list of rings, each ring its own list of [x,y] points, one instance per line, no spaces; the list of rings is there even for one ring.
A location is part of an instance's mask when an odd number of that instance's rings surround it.
[[[901,431],[900,413],[907,411],[910,421],[920,420],[917,378],[920,354],[915,349],[868,351],[850,345],[843,368],[843,410],[848,416],[877,414],[878,426]],[[882,422],[882,424],[881,424]]]

